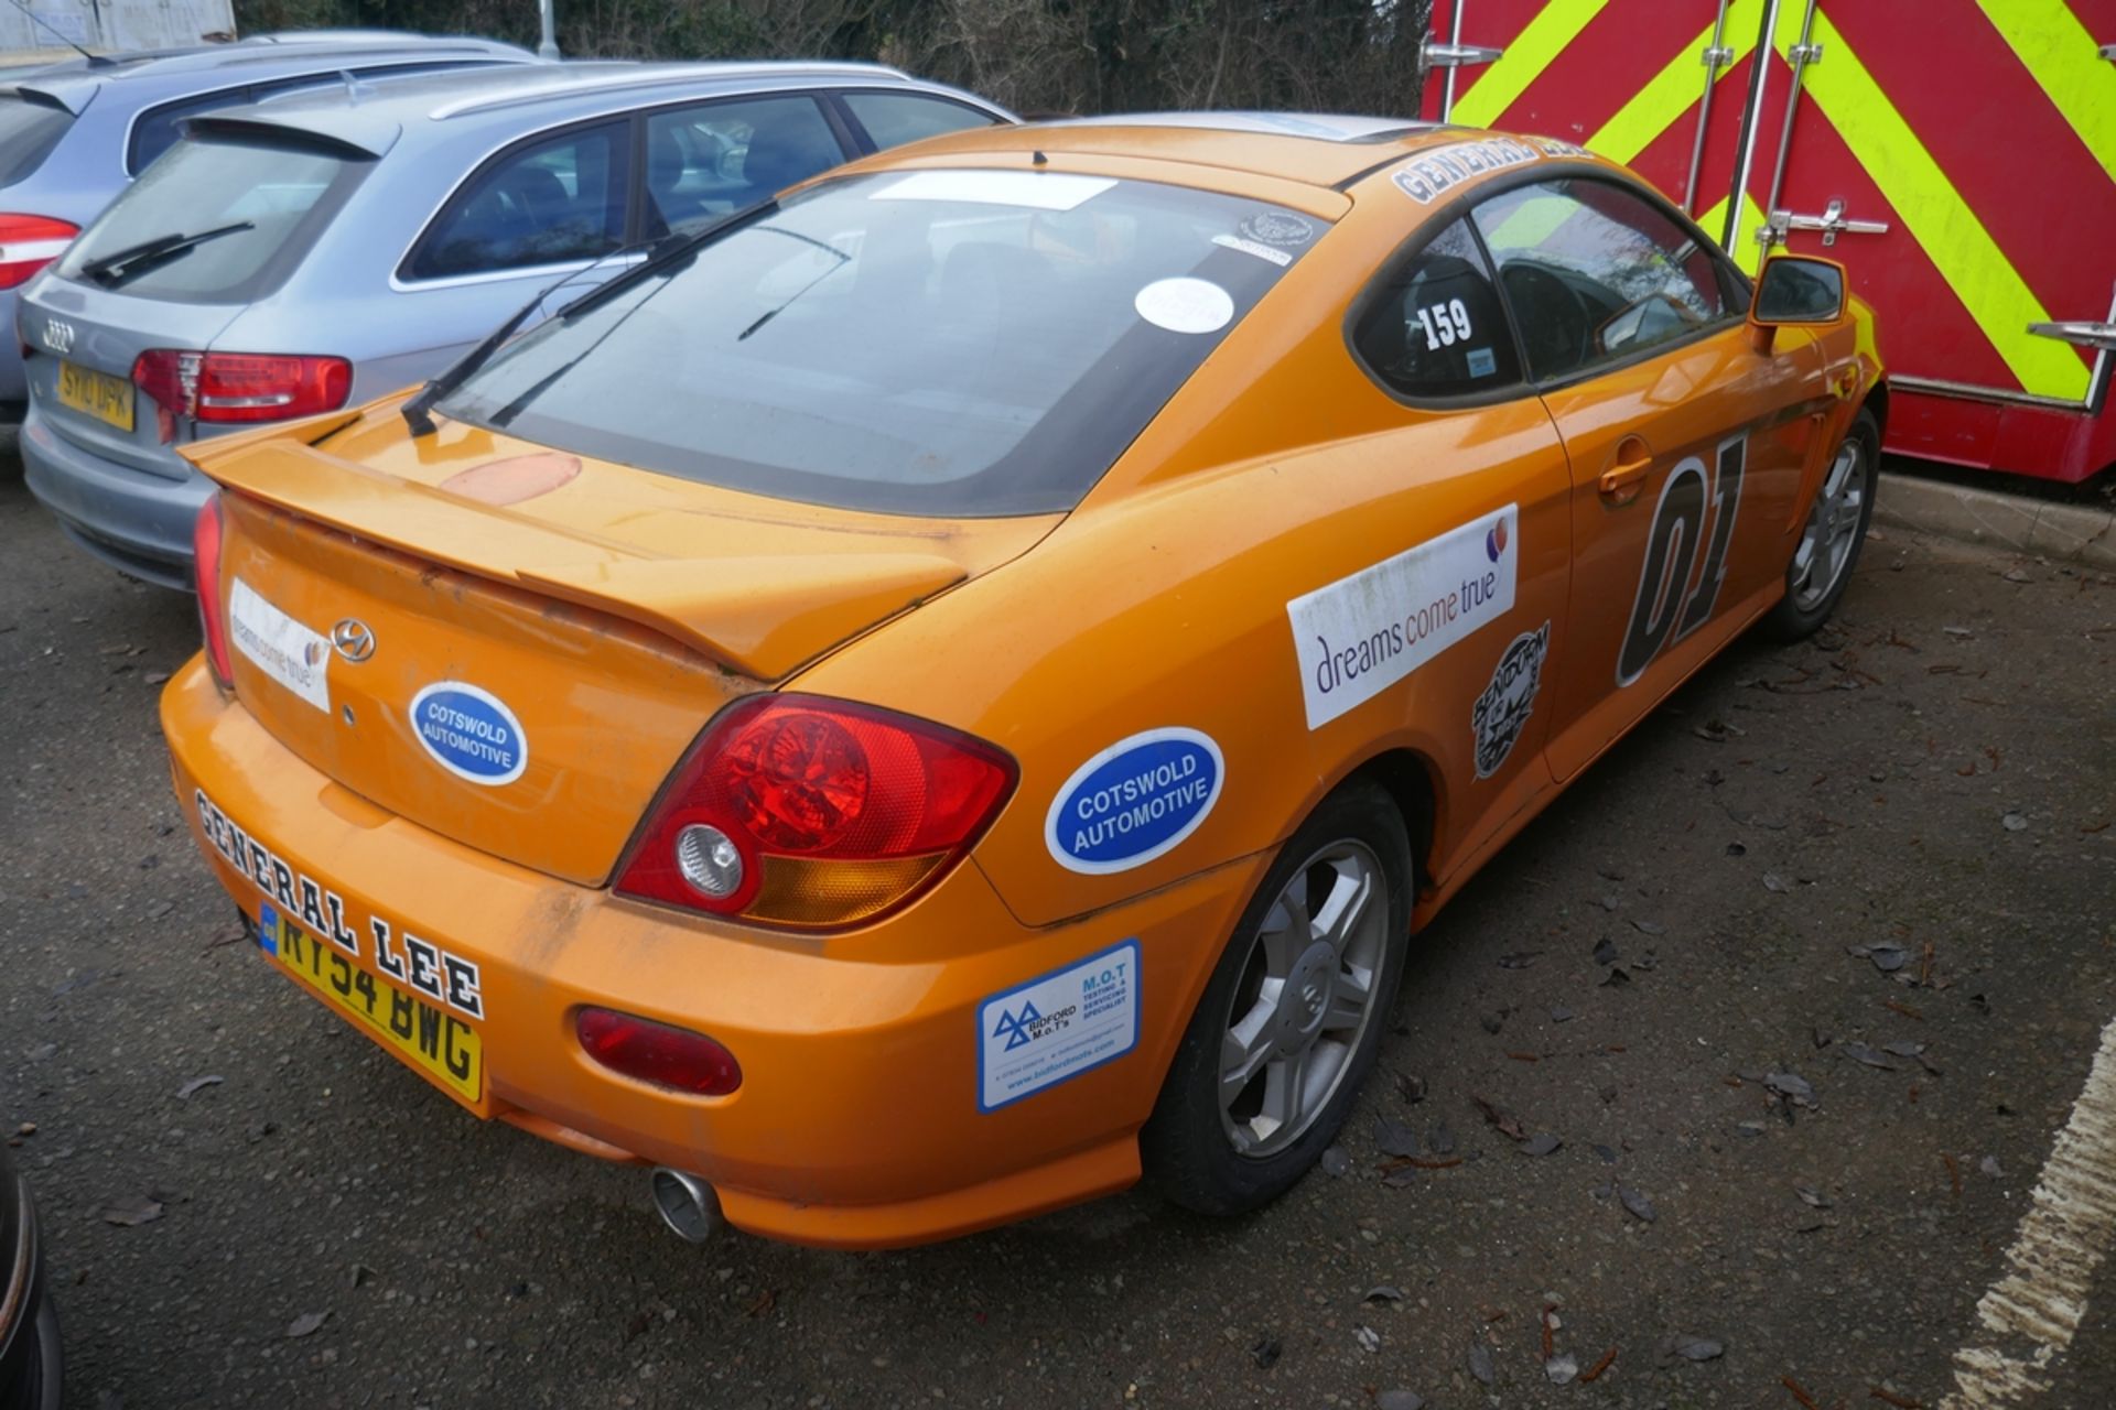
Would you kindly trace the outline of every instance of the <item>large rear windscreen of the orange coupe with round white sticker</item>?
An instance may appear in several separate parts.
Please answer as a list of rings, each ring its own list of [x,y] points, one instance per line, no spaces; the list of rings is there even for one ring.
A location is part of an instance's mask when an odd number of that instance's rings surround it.
[[[440,410],[804,503],[1062,512],[1320,235],[1153,182],[842,178],[546,321]]]

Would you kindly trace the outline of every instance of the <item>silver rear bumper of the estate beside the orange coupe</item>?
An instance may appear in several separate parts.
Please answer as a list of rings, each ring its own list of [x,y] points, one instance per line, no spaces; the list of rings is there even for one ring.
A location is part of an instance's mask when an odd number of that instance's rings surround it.
[[[30,493],[80,548],[131,577],[190,592],[190,528],[212,482],[169,480],[68,442],[30,408],[21,427]]]

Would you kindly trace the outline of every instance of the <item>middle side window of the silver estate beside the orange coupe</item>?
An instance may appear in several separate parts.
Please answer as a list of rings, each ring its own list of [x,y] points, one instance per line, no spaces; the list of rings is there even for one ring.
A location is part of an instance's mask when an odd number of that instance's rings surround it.
[[[647,209],[669,230],[694,230],[842,161],[838,133],[806,95],[650,112]]]

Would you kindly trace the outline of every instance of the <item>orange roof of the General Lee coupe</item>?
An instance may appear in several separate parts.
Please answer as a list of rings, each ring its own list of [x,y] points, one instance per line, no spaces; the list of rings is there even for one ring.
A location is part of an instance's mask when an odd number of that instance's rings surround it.
[[[1342,188],[1420,148],[1485,135],[1496,133],[1331,112],[1138,112],[927,137],[916,159],[1064,152],[1090,163],[1145,159]]]

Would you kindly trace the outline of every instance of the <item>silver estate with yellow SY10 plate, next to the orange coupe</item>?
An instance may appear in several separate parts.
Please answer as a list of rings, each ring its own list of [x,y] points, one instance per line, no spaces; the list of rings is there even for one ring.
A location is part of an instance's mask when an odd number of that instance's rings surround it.
[[[193,118],[23,290],[30,490],[123,573],[190,588],[184,442],[425,381],[569,275],[1007,120],[865,63],[563,63]]]

